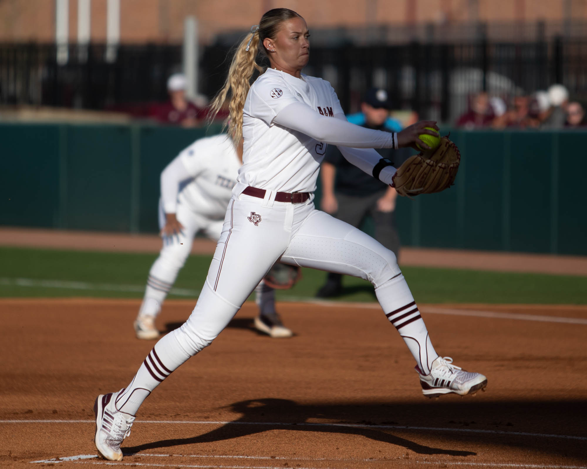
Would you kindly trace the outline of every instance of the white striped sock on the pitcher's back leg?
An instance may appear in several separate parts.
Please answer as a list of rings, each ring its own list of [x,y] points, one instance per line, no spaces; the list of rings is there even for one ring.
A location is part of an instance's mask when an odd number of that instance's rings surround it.
[[[116,399],[116,409],[134,415],[151,391],[190,358],[170,332],[155,344],[133,380]]]

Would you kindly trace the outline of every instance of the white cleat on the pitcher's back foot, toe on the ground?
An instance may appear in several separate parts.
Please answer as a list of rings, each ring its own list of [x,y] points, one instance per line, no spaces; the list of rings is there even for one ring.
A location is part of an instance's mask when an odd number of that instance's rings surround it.
[[[94,443],[98,450],[98,457],[110,461],[122,461],[120,445],[130,435],[134,416],[116,410],[114,402],[119,392],[100,394],[94,403],[96,414],[96,436]]]

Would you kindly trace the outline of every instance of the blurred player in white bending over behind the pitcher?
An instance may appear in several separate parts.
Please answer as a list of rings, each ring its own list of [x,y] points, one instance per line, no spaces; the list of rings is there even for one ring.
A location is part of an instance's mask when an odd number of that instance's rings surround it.
[[[139,339],[156,339],[155,318],[190,255],[198,232],[218,241],[231,198],[242,145],[226,134],[201,138],[180,152],[161,173],[159,224],[163,247],[149,271],[134,331]],[[291,337],[275,312],[275,291],[263,281],[256,288],[259,315],[255,328],[271,337]]]

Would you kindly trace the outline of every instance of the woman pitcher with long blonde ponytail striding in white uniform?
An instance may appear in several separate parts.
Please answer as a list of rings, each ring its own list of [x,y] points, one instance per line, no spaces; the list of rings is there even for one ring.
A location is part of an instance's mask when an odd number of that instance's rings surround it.
[[[122,460],[120,444],[144,399],[211,344],[277,259],[369,280],[416,360],[424,395],[466,395],[487,386],[485,376],[462,371],[434,351],[393,252],[312,202],[327,144],[390,183],[396,169],[373,148],[414,145],[419,134],[431,134],[424,127],[435,123],[421,121],[399,133],[350,124],[328,81],[301,74],[309,33],[298,13],[272,9],[251,32],[215,100],[218,108],[231,92],[229,130],[234,141],[242,133],[244,155],[208,277],[188,320],[157,342],[129,385],[97,397],[95,442],[107,459]],[[259,45],[271,68],[249,86],[254,70],[261,69],[255,62]]]

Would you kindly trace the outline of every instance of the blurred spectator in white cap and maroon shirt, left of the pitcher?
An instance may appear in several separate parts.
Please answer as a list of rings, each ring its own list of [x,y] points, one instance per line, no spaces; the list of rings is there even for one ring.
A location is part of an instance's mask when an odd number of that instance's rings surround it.
[[[177,124],[182,127],[196,127],[200,124],[202,112],[185,97],[187,81],[183,73],[175,73],[167,80],[169,101],[151,108],[151,117],[163,124]]]

